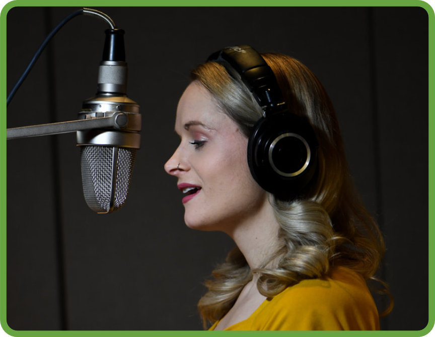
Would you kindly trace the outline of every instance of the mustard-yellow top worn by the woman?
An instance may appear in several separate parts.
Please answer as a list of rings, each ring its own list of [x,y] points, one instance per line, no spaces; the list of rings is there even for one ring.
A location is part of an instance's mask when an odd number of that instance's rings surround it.
[[[364,278],[337,267],[324,279],[301,281],[266,299],[225,330],[379,330],[379,315]]]

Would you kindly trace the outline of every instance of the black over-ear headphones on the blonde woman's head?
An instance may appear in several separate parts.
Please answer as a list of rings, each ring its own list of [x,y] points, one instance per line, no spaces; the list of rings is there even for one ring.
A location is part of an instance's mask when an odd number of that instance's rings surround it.
[[[221,63],[232,76],[236,71],[263,109],[248,142],[254,179],[280,199],[300,195],[317,167],[318,143],[311,125],[288,110],[272,70],[252,47],[228,47],[207,61]]]

